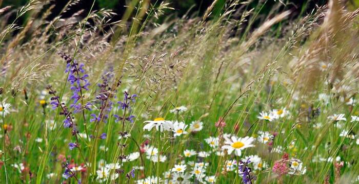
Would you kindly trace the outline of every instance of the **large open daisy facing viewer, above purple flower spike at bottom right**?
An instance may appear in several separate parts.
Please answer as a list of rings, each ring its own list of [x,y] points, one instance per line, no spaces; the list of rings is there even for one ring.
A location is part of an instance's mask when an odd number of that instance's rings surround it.
[[[240,137],[237,138],[235,136],[232,136],[231,139],[228,139],[225,137],[225,146],[222,147],[222,149],[227,149],[227,153],[231,154],[234,151],[234,154],[237,156],[242,155],[242,150],[249,147],[254,147],[252,144],[254,141],[253,137]]]

